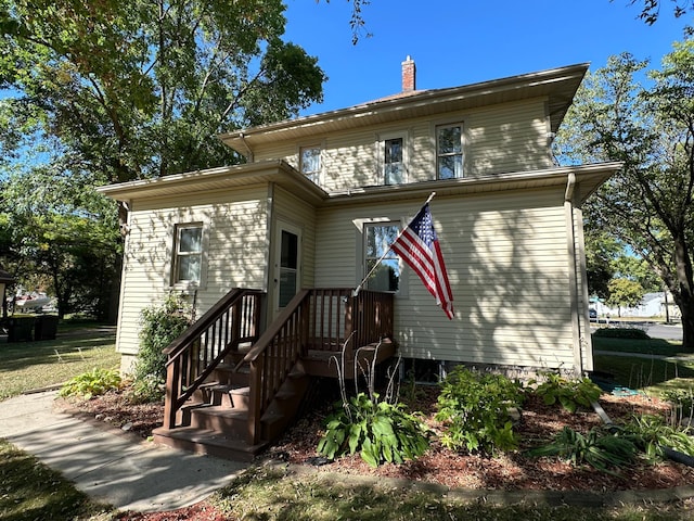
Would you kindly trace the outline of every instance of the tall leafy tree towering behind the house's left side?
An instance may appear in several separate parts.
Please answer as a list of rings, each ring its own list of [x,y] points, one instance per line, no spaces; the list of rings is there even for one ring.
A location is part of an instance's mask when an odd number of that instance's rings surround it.
[[[0,180],[17,173],[51,182],[43,174],[56,173],[88,199],[98,185],[242,162],[218,134],[322,99],[317,59],[281,38],[284,9],[281,0],[0,0]],[[77,200],[54,205],[41,224],[48,236],[26,236],[35,245],[13,254],[41,252],[54,270],[77,266],[59,260],[77,250],[54,229],[80,228],[89,211]],[[30,211],[13,219],[39,225]],[[78,291],[53,281],[64,303]],[[112,303],[118,288],[116,278]]]

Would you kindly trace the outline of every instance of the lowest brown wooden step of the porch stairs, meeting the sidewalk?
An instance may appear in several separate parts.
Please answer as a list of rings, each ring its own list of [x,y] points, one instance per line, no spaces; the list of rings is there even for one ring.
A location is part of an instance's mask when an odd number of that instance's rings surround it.
[[[215,431],[181,427],[177,429],[158,428],[153,431],[154,441],[169,447],[195,454],[207,454],[234,461],[252,461],[261,453],[267,443],[247,445],[241,440],[232,439]]]

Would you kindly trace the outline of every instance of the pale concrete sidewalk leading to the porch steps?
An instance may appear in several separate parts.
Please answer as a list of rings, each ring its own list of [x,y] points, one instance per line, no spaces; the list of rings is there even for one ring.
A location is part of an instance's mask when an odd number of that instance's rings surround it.
[[[228,484],[245,463],[138,442],[56,412],[56,392],[0,402],[0,437],[63,473],[77,488],[120,510],[193,505]]]

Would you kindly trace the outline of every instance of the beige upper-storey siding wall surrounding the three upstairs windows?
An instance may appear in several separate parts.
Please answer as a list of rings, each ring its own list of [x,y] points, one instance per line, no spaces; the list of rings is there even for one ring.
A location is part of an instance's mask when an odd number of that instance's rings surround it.
[[[298,169],[299,147],[319,144],[322,148],[321,186],[325,190],[376,186],[383,183],[378,142],[384,137],[401,134],[406,137],[407,182],[433,180],[436,178],[436,126],[461,122],[465,177],[552,166],[544,99],[317,136],[299,143],[273,143],[258,147],[254,157],[256,161],[283,158]]]

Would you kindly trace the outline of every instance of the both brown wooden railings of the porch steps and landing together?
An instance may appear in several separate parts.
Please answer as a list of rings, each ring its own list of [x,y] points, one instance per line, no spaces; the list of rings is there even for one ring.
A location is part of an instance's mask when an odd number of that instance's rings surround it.
[[[309,351],[339,353],[393,338],[393,294],[352,289],[301,290],[259,334],[262,293],[234,289],[166,350],[164,428],[177,425],[178,411],[215,368],[241,344],[250,345],[234,367],[247,367],[249,381],[246,443],[262,437],[261,419],[297,361]],[[349,340],[349,342],[347,342]],[[346,343],[347,342],[347,343]]]

